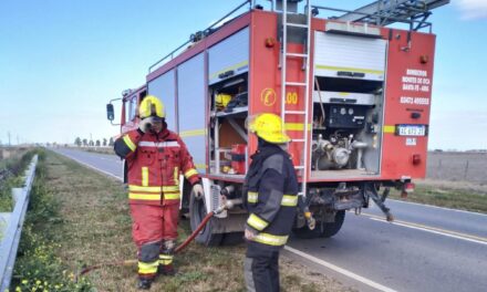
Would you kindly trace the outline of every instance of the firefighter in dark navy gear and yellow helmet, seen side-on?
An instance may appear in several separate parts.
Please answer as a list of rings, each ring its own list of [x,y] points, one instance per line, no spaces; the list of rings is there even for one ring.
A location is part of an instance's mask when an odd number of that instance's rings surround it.
[[[249,121],[258,149],[246,176],[244,201],[249,211],[245,279],[248,291],[279,291],[279,250],[286,244],[298,204],[298,179],[282,121],[260,114]]]

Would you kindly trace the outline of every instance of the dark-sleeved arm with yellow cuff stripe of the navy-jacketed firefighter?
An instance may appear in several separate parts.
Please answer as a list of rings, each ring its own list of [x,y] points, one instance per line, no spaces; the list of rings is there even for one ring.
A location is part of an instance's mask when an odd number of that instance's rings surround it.
[[[260,180],[258,204],[247,219],[246,228],[258,233],[265,230],[276,218],[284,189],[282,175],[272,168],[267,169]]]

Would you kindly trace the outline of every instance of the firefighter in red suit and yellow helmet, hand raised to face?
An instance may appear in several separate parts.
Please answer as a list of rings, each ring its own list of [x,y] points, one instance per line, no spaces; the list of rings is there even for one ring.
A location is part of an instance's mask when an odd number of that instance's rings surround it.
[[[156,274],[174,275],[173,252],[179,212],[179,173],[203,196],[200,178],[186,145],[167,129],[164,104],[146,96],[138,108],[141,123],[114,144],[126,159],[132,237],[138,252],[138,288],[151,289]]]

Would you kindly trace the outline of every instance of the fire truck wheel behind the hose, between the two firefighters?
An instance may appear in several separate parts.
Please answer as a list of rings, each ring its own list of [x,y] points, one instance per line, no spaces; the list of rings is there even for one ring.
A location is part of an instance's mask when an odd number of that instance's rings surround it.
[[[196,199],[194,194],[191,192],[189,199],[189,223],[191,226],[191,231],[195,231],[199,223],[203,221],[206,212],[205,199]],[[198,236],[196,236],[196,242],[201,243],[206,247],[216,247],[221,243],[222,234],[221,233],[213,233],[213,227],[216,223],[217,218],[209,219],[208,223],[205,228],[201,229]]]

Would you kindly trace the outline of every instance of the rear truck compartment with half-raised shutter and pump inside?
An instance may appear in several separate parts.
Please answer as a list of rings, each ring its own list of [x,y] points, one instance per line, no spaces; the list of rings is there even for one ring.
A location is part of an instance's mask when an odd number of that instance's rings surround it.
[[[311,177],[379,176],[385,41],[315,33]]]

